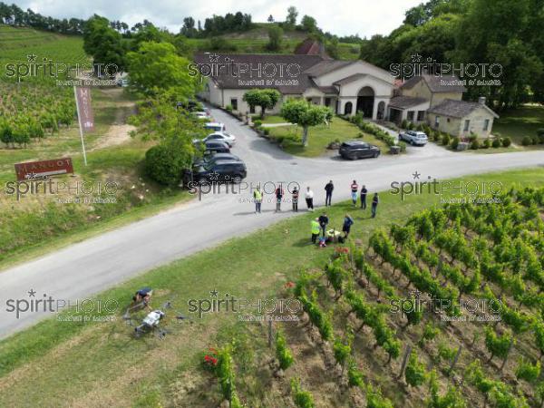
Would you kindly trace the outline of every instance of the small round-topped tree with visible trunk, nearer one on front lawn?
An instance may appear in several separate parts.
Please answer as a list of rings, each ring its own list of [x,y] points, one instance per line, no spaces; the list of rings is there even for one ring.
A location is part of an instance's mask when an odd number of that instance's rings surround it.
[[[289,99],[281,107],[280,115],[302,127],[302,145],[307,146],[309,127],[331,121],[334,113],[326,106],[314,105],[302,99]]]

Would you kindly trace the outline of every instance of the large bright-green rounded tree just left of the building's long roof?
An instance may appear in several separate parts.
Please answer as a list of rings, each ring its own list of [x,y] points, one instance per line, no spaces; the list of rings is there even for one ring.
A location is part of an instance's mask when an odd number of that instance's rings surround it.
[[[189,75],[189,61],[169,43],[142,43],[138,52],[127,54],[131,90],[145,96],[175,92],[178,101],[194,96],[197,77]]]

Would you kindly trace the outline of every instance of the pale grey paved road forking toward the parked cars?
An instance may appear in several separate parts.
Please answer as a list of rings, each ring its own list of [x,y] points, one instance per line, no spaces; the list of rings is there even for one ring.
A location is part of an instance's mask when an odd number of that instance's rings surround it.
[[[432,144],[424,148],[409,148],[408,154],[403,156],[384,155],[375,160],[295,158],[257,137],[227,113],[212,110],[212,114],[218,121],[225,122],[228,131],[237,136],[238,143],[233,152],[247,162],[248,183],[296,181],[303,188],[309,185],[316,193],[317,205],[324,202],[323,187],[329,179],[335,181],[333,199],[337,201],[348,199],[348,186],[353,179],[374,191],[388,189],[393,180],[412,180],[412,173],[416,170],[424,180],[427,176],[445,179],[491,170],[544,165],[541,151],[455,154]],[[265,199],[271,197],[266,196]],[[293,215],[290,211],[276,214],[272,200],[264,203],[262,214],[256,215],[250,202],[240,202],[240,199],[249,198],[249,191],[240,195],[207,195],[201,200],[195,199],[179,208],[5,270],[0,273],[0,337],[46,316],[25,313],[16,319],[14,313],[5,310],[6,299],[29,299],[27,292],[31,289],[37,292],[36,298],[47,294],[54,299],[82,299],[151,267],[188,256],[227,238],[248,234]],[[301,203],[301,208],[304,207]]]

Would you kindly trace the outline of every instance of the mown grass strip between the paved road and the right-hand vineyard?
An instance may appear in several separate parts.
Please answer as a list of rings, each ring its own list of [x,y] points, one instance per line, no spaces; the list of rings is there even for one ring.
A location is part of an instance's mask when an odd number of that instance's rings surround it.
[[[463,180],[500,181],[506,188],[541,187],[544,169],[467,176]],[[352,237],[365,243],[374,228],[403,223],[413,212],[438,204],[439,198],[434,195],[413,195],[401,201],[383,192],[376,219],[369,218],[368,209],[352,209],[346,202],[335,204],[327,212],[331,226],[336,228],[349,212],[355,219]],[[136,288],[151,286],[156,292],[154,305],[173,300],[175,308],[187,314],[188,299],[209,298],[209,291],[214,289],[220,296],[229,293],[251,299],[280,293],[301,268],[323,267],[334,251],[334,246],[320,249],[309,244],[309,221],[319,210],[158,267],[97,297],[116,299],[123,306]],[[165,340],[153,336],[135,340],[121,314],[110,323],[50,318],[1,341],[0,406],[88,406],[91,401],[96,406],[172,406],[176,384],[192,384],[199,375],[201,350],[215,345],[218,335],[221,344],[235,341],[235,332],[239,332],[233,314],[209,314],[201,320],[196,317],[193,324],[172,326],[173,333]],[[201,386],[193,398],[217,393],[215,385],[204,382]],[[151,396],[152,403],[147,400]]]

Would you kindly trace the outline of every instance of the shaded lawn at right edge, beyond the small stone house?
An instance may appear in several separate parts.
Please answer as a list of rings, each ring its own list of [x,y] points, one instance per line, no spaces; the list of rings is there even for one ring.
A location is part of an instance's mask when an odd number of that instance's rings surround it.
[[[502,112],[500,118],[493,123],[493,132],[499,132],[503,137],[509,136],[519,145],[525,136],[535,136],[537,130],[542,128],[544,128],[542,105],[523,105],[519,109]]]

